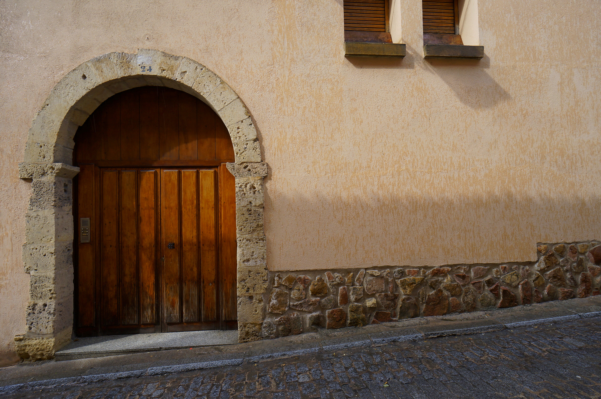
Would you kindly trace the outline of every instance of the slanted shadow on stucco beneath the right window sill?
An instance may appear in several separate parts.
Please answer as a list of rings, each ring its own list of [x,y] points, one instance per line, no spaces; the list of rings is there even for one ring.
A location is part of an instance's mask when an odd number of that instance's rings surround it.
[[[511,100],[511,96],[485,69],[490,59],[424,59],[423,69],[435,73],[457,98],[472,109],[491,108]]]

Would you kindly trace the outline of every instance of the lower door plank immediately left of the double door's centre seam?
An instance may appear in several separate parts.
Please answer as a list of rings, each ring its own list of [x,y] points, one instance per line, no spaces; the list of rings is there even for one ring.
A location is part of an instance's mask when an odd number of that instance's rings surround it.
[[[156,320],[157,171],[140,171],[140,313],[142,324]]]

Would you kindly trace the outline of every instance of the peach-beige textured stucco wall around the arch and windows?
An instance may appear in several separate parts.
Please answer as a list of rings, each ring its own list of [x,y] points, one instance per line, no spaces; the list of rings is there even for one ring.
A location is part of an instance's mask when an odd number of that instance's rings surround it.
[[[534,261],[599,239],[594,2],[479,0],[481,61],[346,59],[341,0],[0,1],[0,359],[25,328],[29,183],[50,89],[94,56],[153,48],[221,76],[260,131],[270,270]]]

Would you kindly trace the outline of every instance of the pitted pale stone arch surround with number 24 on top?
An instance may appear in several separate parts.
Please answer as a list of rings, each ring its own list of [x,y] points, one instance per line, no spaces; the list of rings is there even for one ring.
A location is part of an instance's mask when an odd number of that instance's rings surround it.
[[[219,76],[204,65],[159,50],[108,53],[69,72],[50,91],[31,129],[19,177],[31,179],[23,245],[30,273],[26,332],[15,337],[25,359],[49,359],[73,331],[72,166],[75,132],[106,99],[130,88],[159,85],[207,103],[230,132],[236,162],[237,291],[239,341],[260,339],[267,289],[263,232],[263,177],[257,130],[251,114]]]

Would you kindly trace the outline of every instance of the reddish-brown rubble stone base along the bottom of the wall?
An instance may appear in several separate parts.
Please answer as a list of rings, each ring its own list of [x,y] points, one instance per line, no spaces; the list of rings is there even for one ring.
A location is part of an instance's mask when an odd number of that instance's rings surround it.
[[[540,243],[536,262],[270,272],[261,335],[599,295],[599,244]]]

